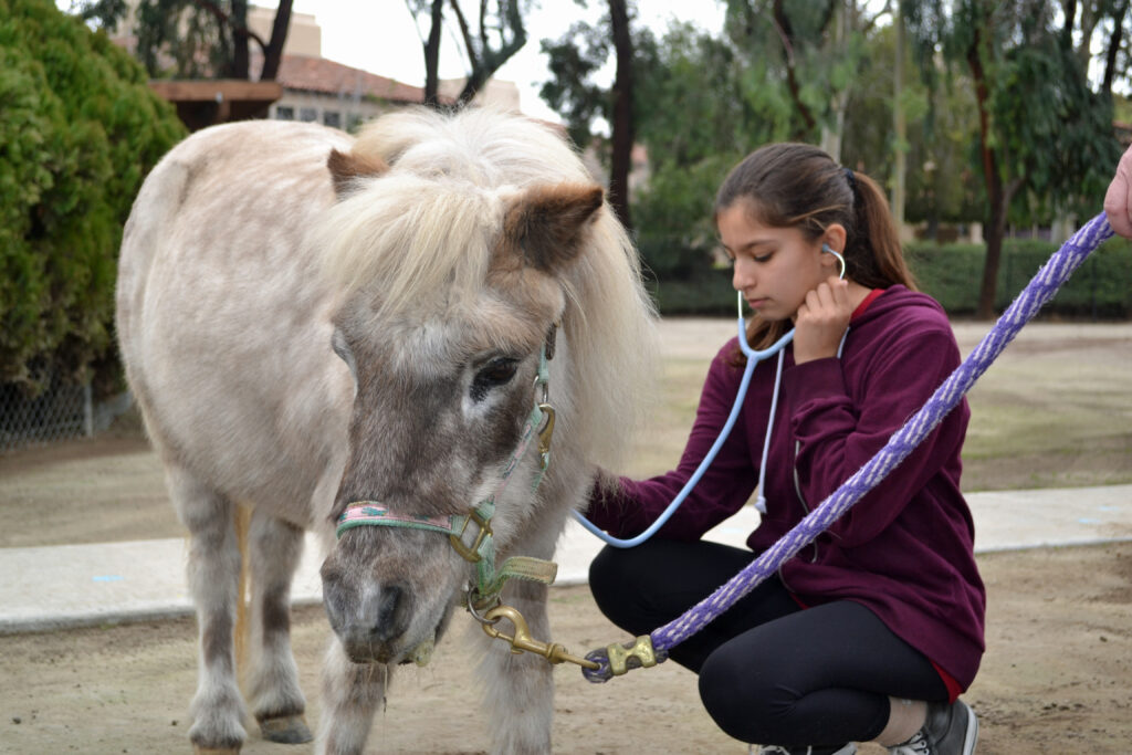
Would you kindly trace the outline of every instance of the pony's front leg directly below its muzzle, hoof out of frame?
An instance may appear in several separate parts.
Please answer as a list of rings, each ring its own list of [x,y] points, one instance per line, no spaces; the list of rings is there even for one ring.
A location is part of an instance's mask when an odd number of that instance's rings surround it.
[[[354,663],[337,637],[331,640],[323,667],[323,713],[318,755],[359,755],[385,701],[392,669],[384,663]]]

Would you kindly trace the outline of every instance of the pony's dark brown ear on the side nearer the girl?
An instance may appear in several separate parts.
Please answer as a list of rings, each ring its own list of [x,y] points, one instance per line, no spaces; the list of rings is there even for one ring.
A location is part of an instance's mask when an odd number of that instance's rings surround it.
[[[558,183],[528,189],[504,215],[505,247],[543,273],[577,256],[582,234],[601,207],[597,183]]]

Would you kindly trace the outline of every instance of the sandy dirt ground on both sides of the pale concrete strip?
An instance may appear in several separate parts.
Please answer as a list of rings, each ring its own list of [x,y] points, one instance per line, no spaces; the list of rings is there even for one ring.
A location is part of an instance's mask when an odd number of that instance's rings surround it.
[[[971,395],[964,480],[974,479],[976,489],[1132,480],[1132,327],[1030,328]],[[957,329],[964,353],[985,331]],[[719,343],[703,337],[702,323],[669,333],[672,372],[681,375],[680,360],[692,360],[693,392],[704,342]],[[686,397],[689,388],[667,391]],[[664,422],[678,426],[691,409],[680,411]],[[671,446],[663,449],[668,460],[683,443],[679,428],[670,435],[662,438]],[[1000,435],[1014,445],[1004,449]],[[94,443],[0,457],[0,547],[181,534],[160,464],[129,422]],[[992,554],[979,565],[989,597],[987,654],[964,696],[981,721],[979,753],[1132,753],[1132,543]],[[429,667],[398,669],[370,753],[487,750],[462,624],[471,625],[456,617]],[[623,638],[584,586],[551,591],[550,624],[552,640],[575,652]],[[328,628],[319,607],[299,609],[293,628],[314,726]],[[700,707],[694,677],[674,663],[600,686],[574,668],[559,667],[555,677],[555,752],[746,752],[714,728]],[[0,753],[190,749],[191,619],[0,636]],[[284,755],[309,747],[265,743],[252,732],[245,752]]]

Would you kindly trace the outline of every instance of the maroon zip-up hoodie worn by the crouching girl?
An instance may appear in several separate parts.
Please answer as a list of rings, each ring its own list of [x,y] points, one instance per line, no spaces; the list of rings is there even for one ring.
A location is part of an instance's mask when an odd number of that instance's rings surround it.
[[[650,480],[621,478],[595,494],[590,518],[617,537],[649,526],[684,487],[723,427],[741,368],[736,340],[707,372],[679,465]],[[698,540],[735,514],[758,481],[778,358],[754,371],[743,411],[714,463],[657,537]],[[795,364],[787,349],[766,461],[766,514],[747,538],[762,551],[860,469],[960,363],[951,325],[931,297],[894,285],[855,312],[840,359]],[[975,527],[959,490],[966,400],[840,521],[782,565],[804,604],[854,600],[966,689],[985,647],[986,592]]]

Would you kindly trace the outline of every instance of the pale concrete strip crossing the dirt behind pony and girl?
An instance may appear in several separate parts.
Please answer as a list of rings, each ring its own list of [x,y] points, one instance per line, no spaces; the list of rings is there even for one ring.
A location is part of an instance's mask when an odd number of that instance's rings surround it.
[[[976,552],[1132,540],[1132,486],[968,495]],[[757,524],[751,507],[706,538],[743,547]],[[558,543],[556,585],[584,584],[602,543],[571,522]],[[0,548],[0,634],[146,621],[194,612],[185,539]],[[307,537],[292,602],[321,602],[319,549]]]

